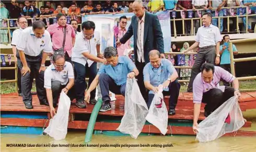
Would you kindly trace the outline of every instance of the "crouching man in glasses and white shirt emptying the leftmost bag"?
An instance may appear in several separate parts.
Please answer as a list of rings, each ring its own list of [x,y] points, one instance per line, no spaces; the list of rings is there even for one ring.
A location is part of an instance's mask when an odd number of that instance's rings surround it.
[[[65,61],[64,55],[54,54],[53,64],[44,72],[44,88],[52,117],[56,114],[54,108],[57,106],[61,91],[64,91],[71,101],[74,99],[74,81],[72,64]]]

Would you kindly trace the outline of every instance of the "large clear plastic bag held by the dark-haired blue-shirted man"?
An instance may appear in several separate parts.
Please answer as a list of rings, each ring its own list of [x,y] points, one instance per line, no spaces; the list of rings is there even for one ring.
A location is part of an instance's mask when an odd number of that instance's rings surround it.
[[[136,79],[127,78],[124,116],[117,130],[124,134],[130,134],[131,137],[136,139],[146,122],[147,113],[147,104],[138,88]]]

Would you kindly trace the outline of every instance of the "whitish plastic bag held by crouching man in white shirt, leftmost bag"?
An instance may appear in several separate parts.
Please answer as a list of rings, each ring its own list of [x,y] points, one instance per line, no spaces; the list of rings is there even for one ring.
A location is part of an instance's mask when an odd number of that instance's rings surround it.
[[[66,137],[70,104],[71,101],[69,97],[62,91],[57,113],[50,120],[48,127],[43,131],[56,141],[65,139]]]

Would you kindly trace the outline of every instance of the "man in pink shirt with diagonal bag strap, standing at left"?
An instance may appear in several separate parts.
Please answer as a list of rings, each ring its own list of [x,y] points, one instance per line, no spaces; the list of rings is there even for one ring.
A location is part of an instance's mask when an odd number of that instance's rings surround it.
[[[57,14],[57,23],[50,25],[47,30],[52,37],[53,50],[64,48],[67,62],[71,62],[72,48],[75,44],[76,33],[71,25],[67,24],[65,14]],[[66,28],[66,38],[64,40],[64,28]],[[72,38],[72,39],[71,39]],[[65,41],[65,42],[63,42]],[[64,44],[64,47],[63,47]]]

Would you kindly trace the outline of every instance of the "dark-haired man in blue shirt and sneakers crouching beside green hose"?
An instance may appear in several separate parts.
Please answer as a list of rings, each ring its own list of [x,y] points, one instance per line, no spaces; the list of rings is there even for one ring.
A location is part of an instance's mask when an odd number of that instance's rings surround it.
[[[111,110],[109,91],[125,96],[127,77],[134,78],[138,75],[138,70],[132,60],[127,56],[118,56],[114,47],[107,47],[104,50],[104,57],[109,65],[101,65],[85,95],[85,101],[89,103],[90,92],[100,84],[103,101],[100,112]]]

